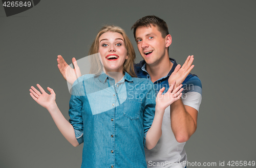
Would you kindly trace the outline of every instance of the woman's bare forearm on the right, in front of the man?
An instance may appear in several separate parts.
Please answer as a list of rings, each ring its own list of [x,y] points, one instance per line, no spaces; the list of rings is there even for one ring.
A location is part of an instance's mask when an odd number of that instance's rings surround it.
[[[146,148],[152,149],[156,146],[158,140],[162,135],[162,121],[163,121],[164,110],[156,107],[155,117],[151,128],[146,134]]]

